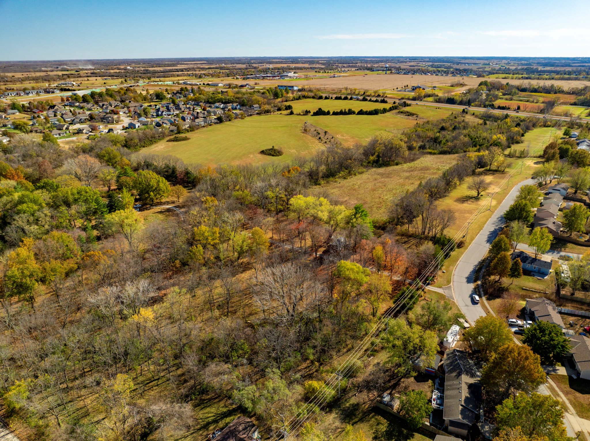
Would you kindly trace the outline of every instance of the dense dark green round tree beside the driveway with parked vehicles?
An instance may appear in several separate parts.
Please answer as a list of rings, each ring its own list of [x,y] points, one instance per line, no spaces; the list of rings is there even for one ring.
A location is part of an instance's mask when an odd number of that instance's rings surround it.
[[[527,327],[522,341],[539,355],[543,364],[560,362],[570,349],[569,339],[561,327],[548,321],[540,320]]]

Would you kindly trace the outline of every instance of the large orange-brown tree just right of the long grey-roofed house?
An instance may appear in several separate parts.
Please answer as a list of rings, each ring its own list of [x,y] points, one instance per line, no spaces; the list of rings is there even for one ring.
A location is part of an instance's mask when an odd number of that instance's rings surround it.
[[[481,385],[500,399],[527,394],[545,383],[540,358],[526,345],[508,343],[493,354],[481,371]]]

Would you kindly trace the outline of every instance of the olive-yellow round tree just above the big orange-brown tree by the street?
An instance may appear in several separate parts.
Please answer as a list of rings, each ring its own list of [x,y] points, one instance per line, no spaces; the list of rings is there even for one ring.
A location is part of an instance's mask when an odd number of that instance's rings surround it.
[[[504,320],[489,314],[466,329],[463,340],[471,352],[480,352],[484,360],[489,360],[501,346],[512,341],[512,332]]]

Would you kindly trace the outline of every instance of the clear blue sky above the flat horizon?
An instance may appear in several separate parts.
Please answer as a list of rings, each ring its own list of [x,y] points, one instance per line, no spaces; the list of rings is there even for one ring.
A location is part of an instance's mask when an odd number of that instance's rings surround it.
[[[0,0],[0,59],[590,57],[590,0]]]

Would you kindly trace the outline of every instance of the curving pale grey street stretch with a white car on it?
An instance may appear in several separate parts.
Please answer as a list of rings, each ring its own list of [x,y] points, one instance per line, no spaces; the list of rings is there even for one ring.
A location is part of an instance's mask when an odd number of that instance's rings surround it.
[[[467,248],[455,267],[453,273],[453,295],[461,312],[465,314],[467,321],[471,324],[479,317],[486,315],[480,304],[474,303],[471,300],[471,294],[475,293],[473,284],[475,282],[477,266],[481,259],[486,256],[490,244],[506,223],[504,221],[504,211],[514,202],[520,187],[534,183],[535,180],[527,179],[514,186],[512,191],[510,191],[500,206],[491,215],[490,220],[487,221],[486,225]]]

